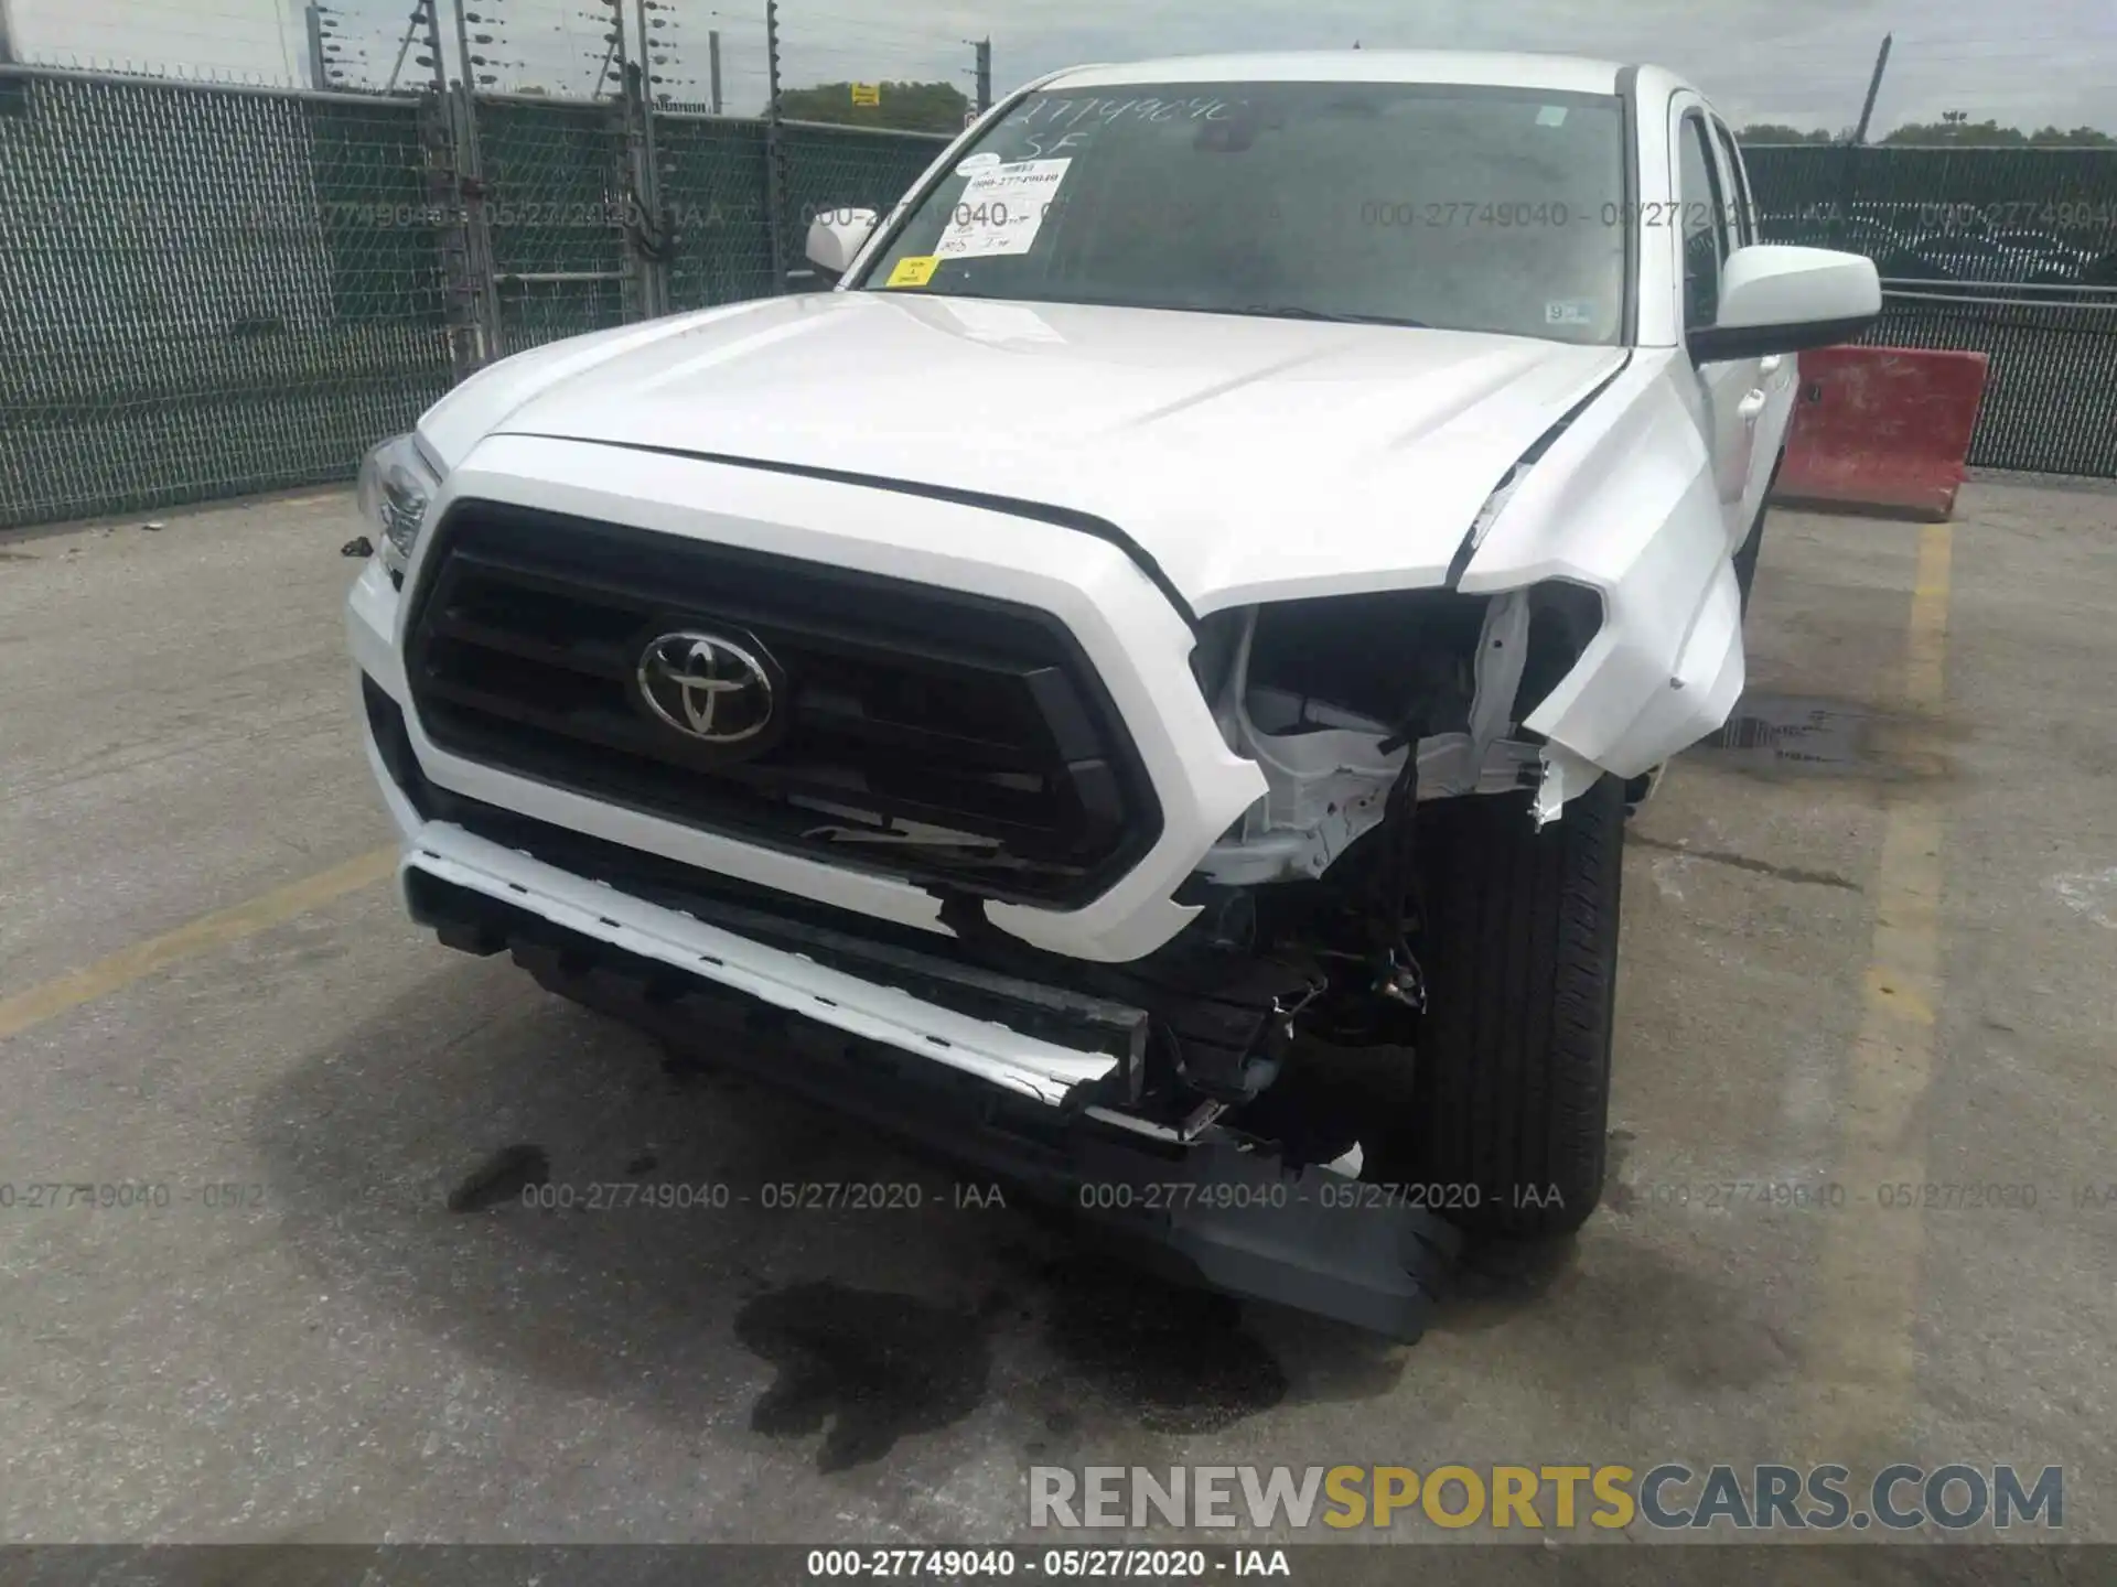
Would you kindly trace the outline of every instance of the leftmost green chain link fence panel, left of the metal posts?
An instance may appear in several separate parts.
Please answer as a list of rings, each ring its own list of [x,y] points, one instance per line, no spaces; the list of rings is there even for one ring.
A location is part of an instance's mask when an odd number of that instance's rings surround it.
[[[451,381],[417,104],[0,76],[0,525],[343,478]]]

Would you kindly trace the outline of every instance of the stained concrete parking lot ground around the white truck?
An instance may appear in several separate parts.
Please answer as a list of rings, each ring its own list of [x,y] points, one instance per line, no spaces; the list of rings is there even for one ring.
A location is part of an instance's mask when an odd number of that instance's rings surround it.
[[[415,931],[351,533],[332,493],[0,542],[8,1538],[991,1540],[1035,1462],[2013,1460],[2117,1540],[2117,495],[1774,516],[1763,726],[1632,827],[1605,1210],[1410,1348],[955,1210]],[[582,1196],[925,1206],[449,1210],[514,1143]]]

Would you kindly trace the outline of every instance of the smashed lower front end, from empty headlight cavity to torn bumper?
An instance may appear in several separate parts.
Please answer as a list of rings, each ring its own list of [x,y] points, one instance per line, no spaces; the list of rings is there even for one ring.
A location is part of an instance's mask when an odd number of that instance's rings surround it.
[[[970,887],[942,889],[936,935],[485,804],[430,783],[396,705],[366,703],[423,821],[406,899],[442,942],[510,952],[1215,1287],[1416,1337],[1459,1236],[1425,1202],[1365,1196],[1374,1124],[1344,1054],[1416,1041],[1421,806],[1550,783],[1520,724],[1598,620],[1567,584],[1209,618],[1198,686],[1268,791],[1179,891],[1192,923],[1120,963],[1025,944]],[[1376,1056],[1401,1079],[1406,1054]]]

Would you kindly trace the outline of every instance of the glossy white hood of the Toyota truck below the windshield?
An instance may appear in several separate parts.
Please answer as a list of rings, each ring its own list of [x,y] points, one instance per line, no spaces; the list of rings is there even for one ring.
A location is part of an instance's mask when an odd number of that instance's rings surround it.
[[[836,292],[627,326],[421,434],[565,436],[1088,512],[1194,612],[1440,584],[1514,461],[1624,362],[1454,330]]]

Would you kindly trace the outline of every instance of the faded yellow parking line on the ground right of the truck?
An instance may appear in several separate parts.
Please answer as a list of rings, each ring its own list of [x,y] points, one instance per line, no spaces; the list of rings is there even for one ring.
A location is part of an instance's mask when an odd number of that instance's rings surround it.
[[[1920,531],[1903,654],[1914,715],[1935,715],[1948,698],[1952,552],[1946,523]],[[1816,1259],[1804,1433],[1819,1460],[1852,1464],[1863,1449],[1886,1452],[1912,1411],[1926,1229],[1920,1210],[1890,1202],[1893,1187],[1926,1176],[1924,1100],[1941,1007],[1941,806],[1924,785],[1888,798],[1861,1022],[1838,1105],[1835,1179],[1846,1206],[1825,1215]]]

